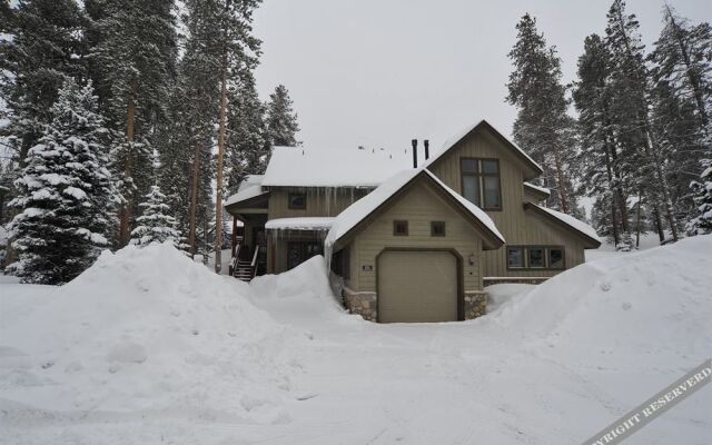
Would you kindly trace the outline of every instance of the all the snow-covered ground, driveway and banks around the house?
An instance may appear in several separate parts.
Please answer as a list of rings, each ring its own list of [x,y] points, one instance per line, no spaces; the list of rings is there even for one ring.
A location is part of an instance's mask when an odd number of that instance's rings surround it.
[[[575,444],[712,353],[712,236],[490,288],[486,317],[345,314],[315,257],[250,285],[167,246],[0,283],[0,443]],[[631,444],[712,443],[702,388]]]

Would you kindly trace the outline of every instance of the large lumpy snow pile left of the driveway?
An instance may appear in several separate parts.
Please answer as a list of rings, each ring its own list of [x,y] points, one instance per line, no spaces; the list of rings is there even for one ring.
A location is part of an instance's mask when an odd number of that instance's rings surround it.
[[[12,400],[16,415],[19,404],[49,416],[286,422],[289,336],[247,294],[248,285],[152,245],[105,251],[41,298],[4,295],[0,404]]]

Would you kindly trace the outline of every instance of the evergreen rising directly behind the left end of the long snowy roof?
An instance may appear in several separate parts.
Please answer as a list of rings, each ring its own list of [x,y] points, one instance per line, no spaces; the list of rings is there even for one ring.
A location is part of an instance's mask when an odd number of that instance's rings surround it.
[[[269,161],[269,136],[265,106],[259,100],[251,72],[231,91],[227,137],[227,190],[236,192],[248,175],[265,172]]]

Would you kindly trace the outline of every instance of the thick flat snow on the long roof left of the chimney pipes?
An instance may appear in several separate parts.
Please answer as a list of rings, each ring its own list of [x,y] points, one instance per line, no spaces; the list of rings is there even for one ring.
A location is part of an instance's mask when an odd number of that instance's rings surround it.
[[[265,187],[378,187],[412,166],[409,149],[275,147]]]

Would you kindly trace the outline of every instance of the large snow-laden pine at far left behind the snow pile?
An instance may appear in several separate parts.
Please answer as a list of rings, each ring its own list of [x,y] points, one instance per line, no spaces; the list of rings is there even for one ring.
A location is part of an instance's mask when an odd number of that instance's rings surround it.
[[[107,168],[107,130],[91,85],[68,79],[51,123],[28,151],[10,224],[20,260],[10,269],[27,283],[62,284],[107,246],[116,190]]]

